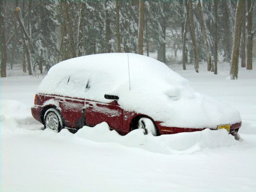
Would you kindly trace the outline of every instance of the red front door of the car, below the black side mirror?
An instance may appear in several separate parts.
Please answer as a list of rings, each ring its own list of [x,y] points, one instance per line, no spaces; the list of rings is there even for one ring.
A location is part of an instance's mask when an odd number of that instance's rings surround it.
[[[111,104],[85,101],[85,123],[88,126],[95,126],[101,122],[107,122],[109,127],[115,130],[122,130],[123,109],[116,101]]]

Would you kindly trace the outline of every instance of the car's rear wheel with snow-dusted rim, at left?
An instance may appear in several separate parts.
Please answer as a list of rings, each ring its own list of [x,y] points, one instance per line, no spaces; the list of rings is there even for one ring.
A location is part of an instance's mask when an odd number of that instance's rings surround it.
[[[63,128],[61,113],[55,108],[49,108],[44,113],[44,129],[50,128],[56,132],[60,132]]]

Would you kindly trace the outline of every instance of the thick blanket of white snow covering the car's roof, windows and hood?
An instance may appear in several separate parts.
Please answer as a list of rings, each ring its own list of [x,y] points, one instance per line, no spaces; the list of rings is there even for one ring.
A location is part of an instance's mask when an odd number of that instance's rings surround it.
[[[162,62],[133,53],[87,55],[62,61],[49,70],[38,93],[105,103],[111,100],[104,95],[113,94],[119,96],[118,103],[125,110],[148,114],[173,127],[216,127],[241,121],[238,111],[196,93],[189,81]]]

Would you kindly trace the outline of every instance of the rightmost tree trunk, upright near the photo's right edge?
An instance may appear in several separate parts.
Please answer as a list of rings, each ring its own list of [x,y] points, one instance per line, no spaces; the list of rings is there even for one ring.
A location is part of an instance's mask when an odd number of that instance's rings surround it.
[[[247,0],[247,70],[253,69],[253,6],[252,0]]]

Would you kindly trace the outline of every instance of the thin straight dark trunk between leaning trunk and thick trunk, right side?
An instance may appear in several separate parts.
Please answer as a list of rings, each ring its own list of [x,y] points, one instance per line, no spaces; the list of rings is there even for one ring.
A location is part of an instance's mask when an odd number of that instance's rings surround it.
[[[218,2],[217,0],[213,1],[214,4],[214,74],[218,74]]]

